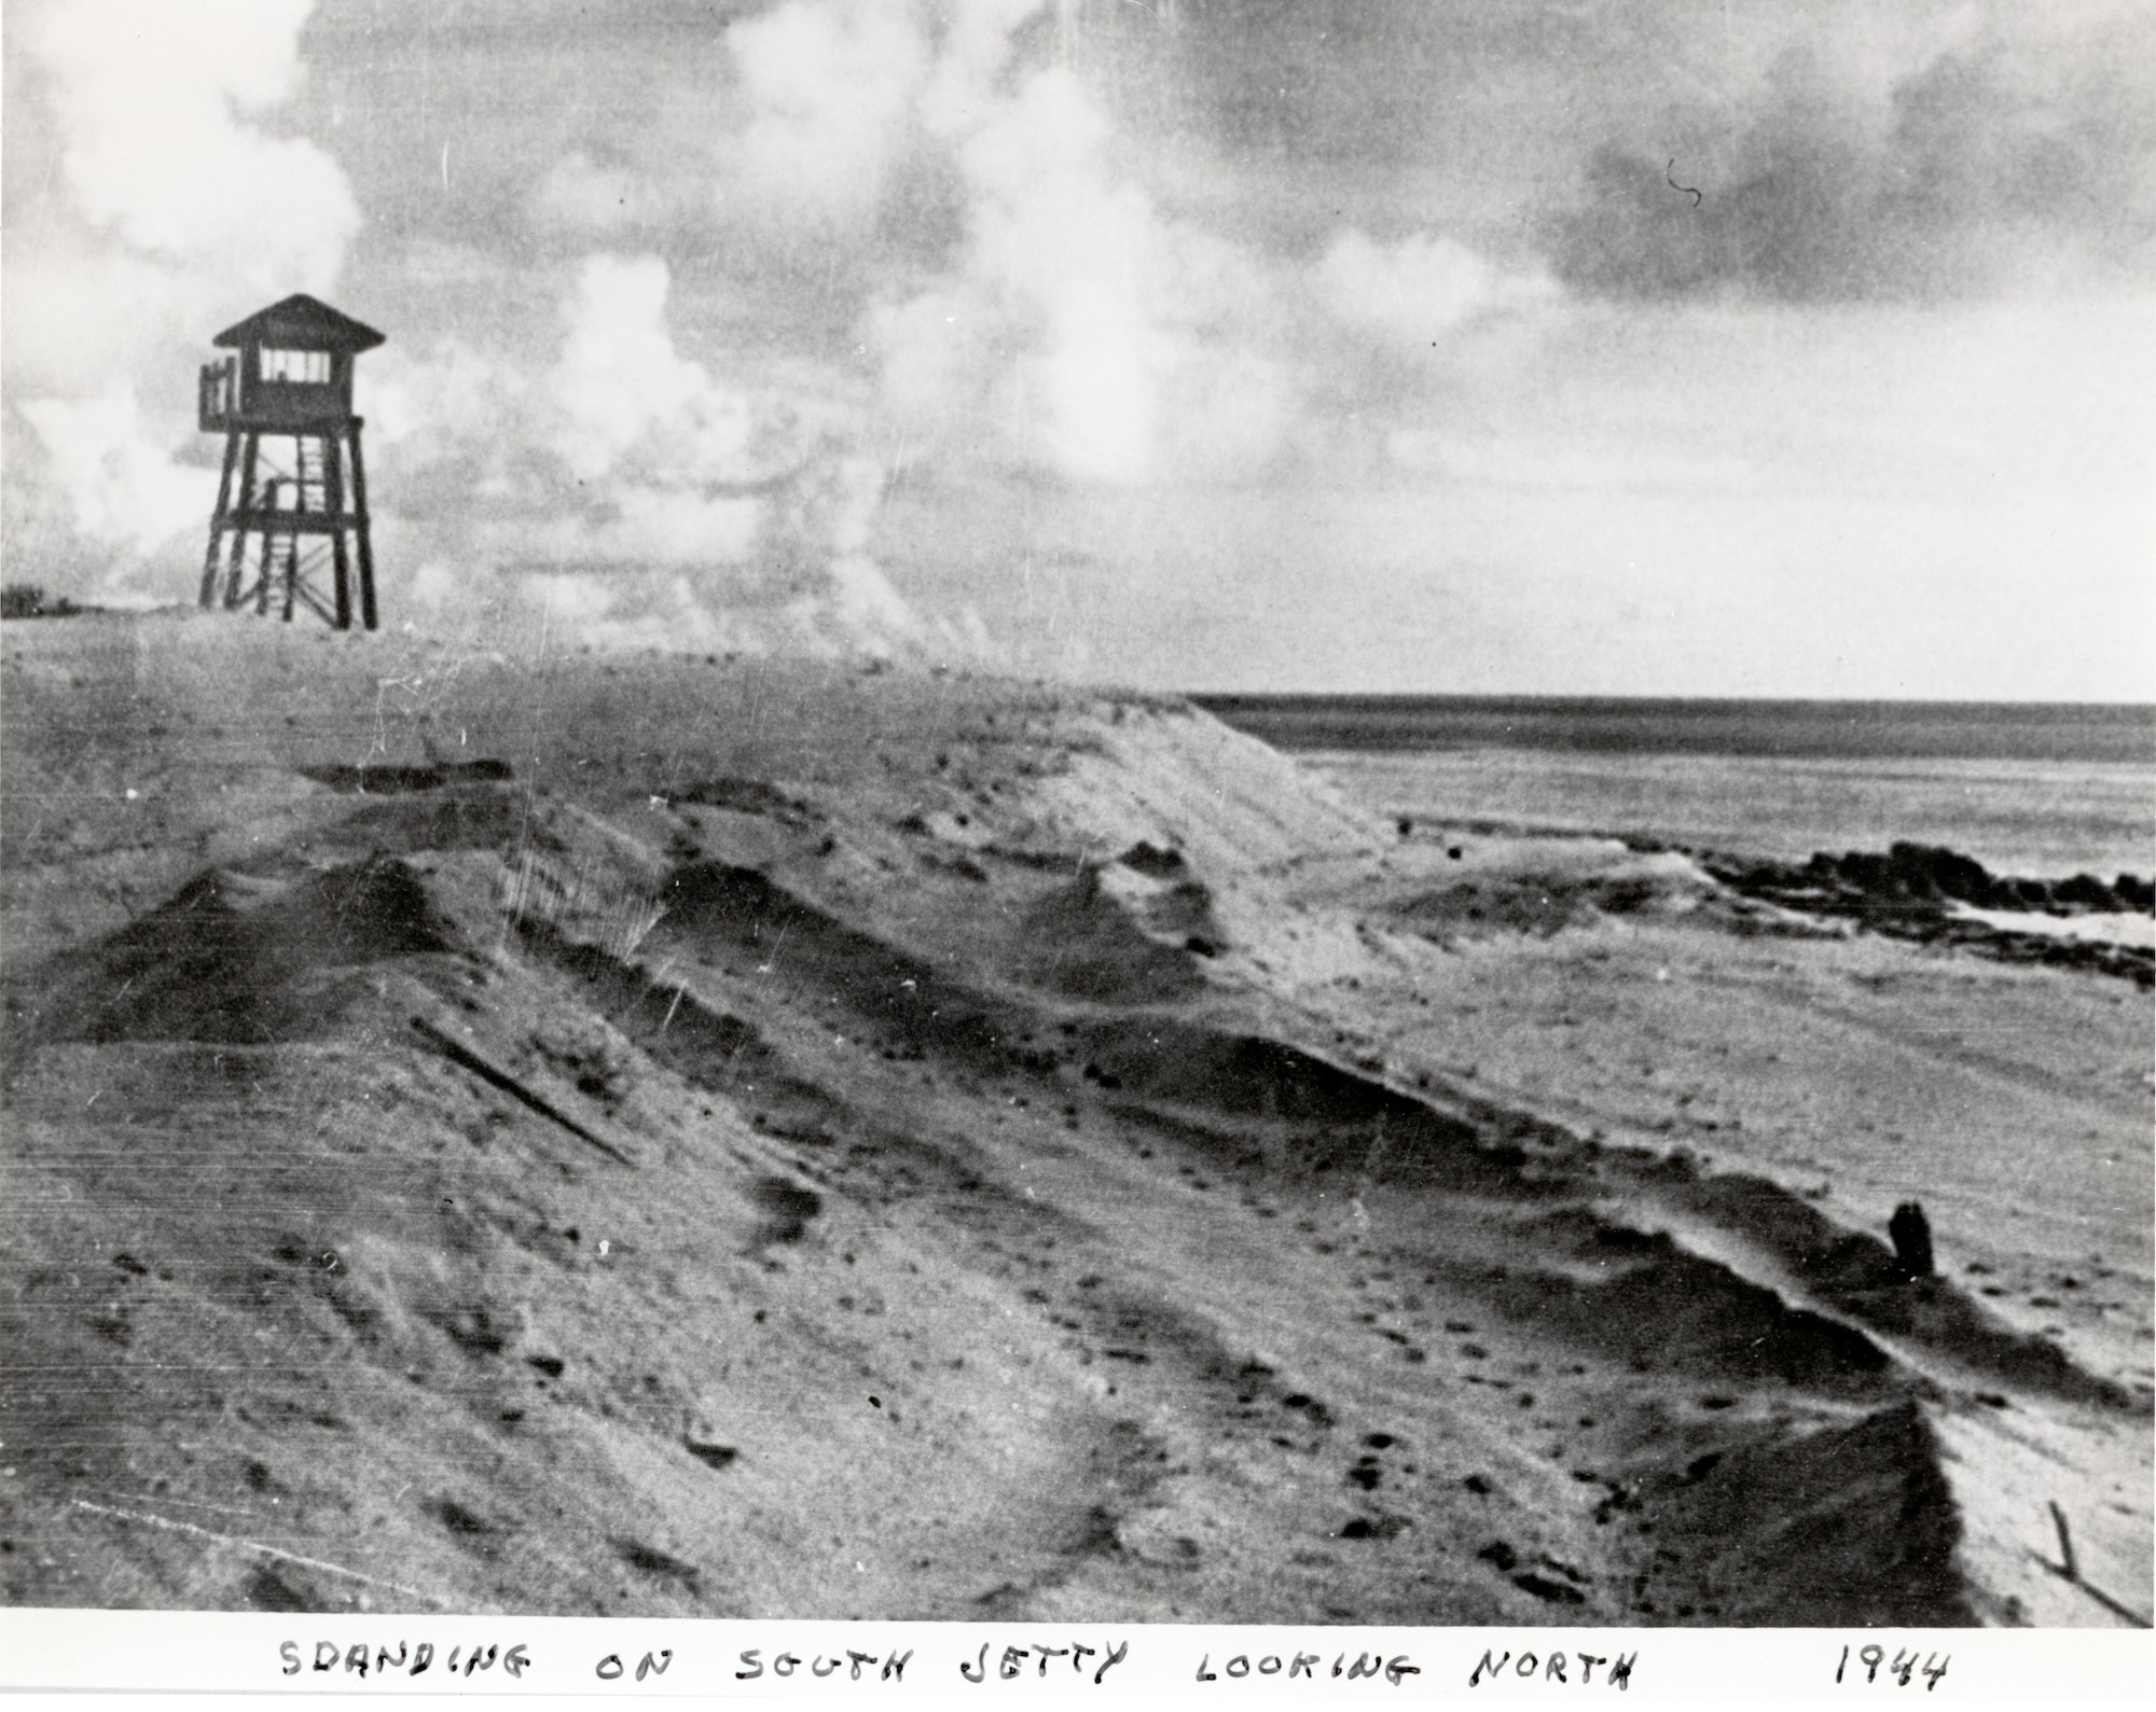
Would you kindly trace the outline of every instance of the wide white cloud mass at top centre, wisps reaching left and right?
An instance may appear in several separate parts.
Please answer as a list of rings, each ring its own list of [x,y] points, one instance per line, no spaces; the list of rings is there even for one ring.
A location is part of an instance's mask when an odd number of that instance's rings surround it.
[[[856,358],[856,444],[1076,485],[1326,459],[1462,330],[1550,298],[1432,233],[1283,254],[1164,205],[1074,52],[1082,24],[1048,0],[780,0],[727,26],[707,134],[634,168],[573,151],[533,218],[634,231],[765,306],[752,339],[808,330],[828,364]]]

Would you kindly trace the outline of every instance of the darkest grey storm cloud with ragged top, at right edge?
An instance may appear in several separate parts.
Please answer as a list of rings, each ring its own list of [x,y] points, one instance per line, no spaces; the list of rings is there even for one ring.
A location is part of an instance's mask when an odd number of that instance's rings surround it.
[[[1660,147],[1595,149],[1576,205],[1548,224],[1552,265],[1583,291],[1647,300],[1923,300],[2145,276],[2156,91],[2137,80],[2156,47],[2143,30],[2128,52],[2126,34],[2072,65],[2001,45],[1940,54],[1882,108],[1792,50],[1733,140],[1677,119]],[[1680,147],[1699,134],[1703,151]]]

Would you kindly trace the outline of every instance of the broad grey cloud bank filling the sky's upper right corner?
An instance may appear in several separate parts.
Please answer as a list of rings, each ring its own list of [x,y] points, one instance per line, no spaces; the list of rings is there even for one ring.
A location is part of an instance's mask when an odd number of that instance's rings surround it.
[[[1341,222],[1451,231],[1619,300],[1979,298],[2152,270],[2145,4],[1179,0],[1175,30],[1115,17],[1141,123],[1210,149],[1216,218],[1281,250]]]

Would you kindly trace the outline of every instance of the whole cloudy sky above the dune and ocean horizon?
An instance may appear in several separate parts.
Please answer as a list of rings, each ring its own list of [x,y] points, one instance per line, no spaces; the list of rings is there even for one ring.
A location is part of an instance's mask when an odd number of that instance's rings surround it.
[[[2145,0],[4,6],[11,580],[190,599],[304,289],[390,623],[2156,694]]]

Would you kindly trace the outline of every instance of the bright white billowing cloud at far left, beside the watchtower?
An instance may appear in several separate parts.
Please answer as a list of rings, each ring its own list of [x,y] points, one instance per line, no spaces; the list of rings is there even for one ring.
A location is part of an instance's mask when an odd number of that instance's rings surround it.
[[[308,9],[201,0],[177,28],[157,0],[54,0],[11,19],[11,99],[50,116],[58,185],[9,235],[9,438],[34,440],[45,485],[11,481],[9,517],[108,584],[205,522],[175,457],[203,321],[328,289],[358,231],[336,162],[259,123],[298,88]]]

